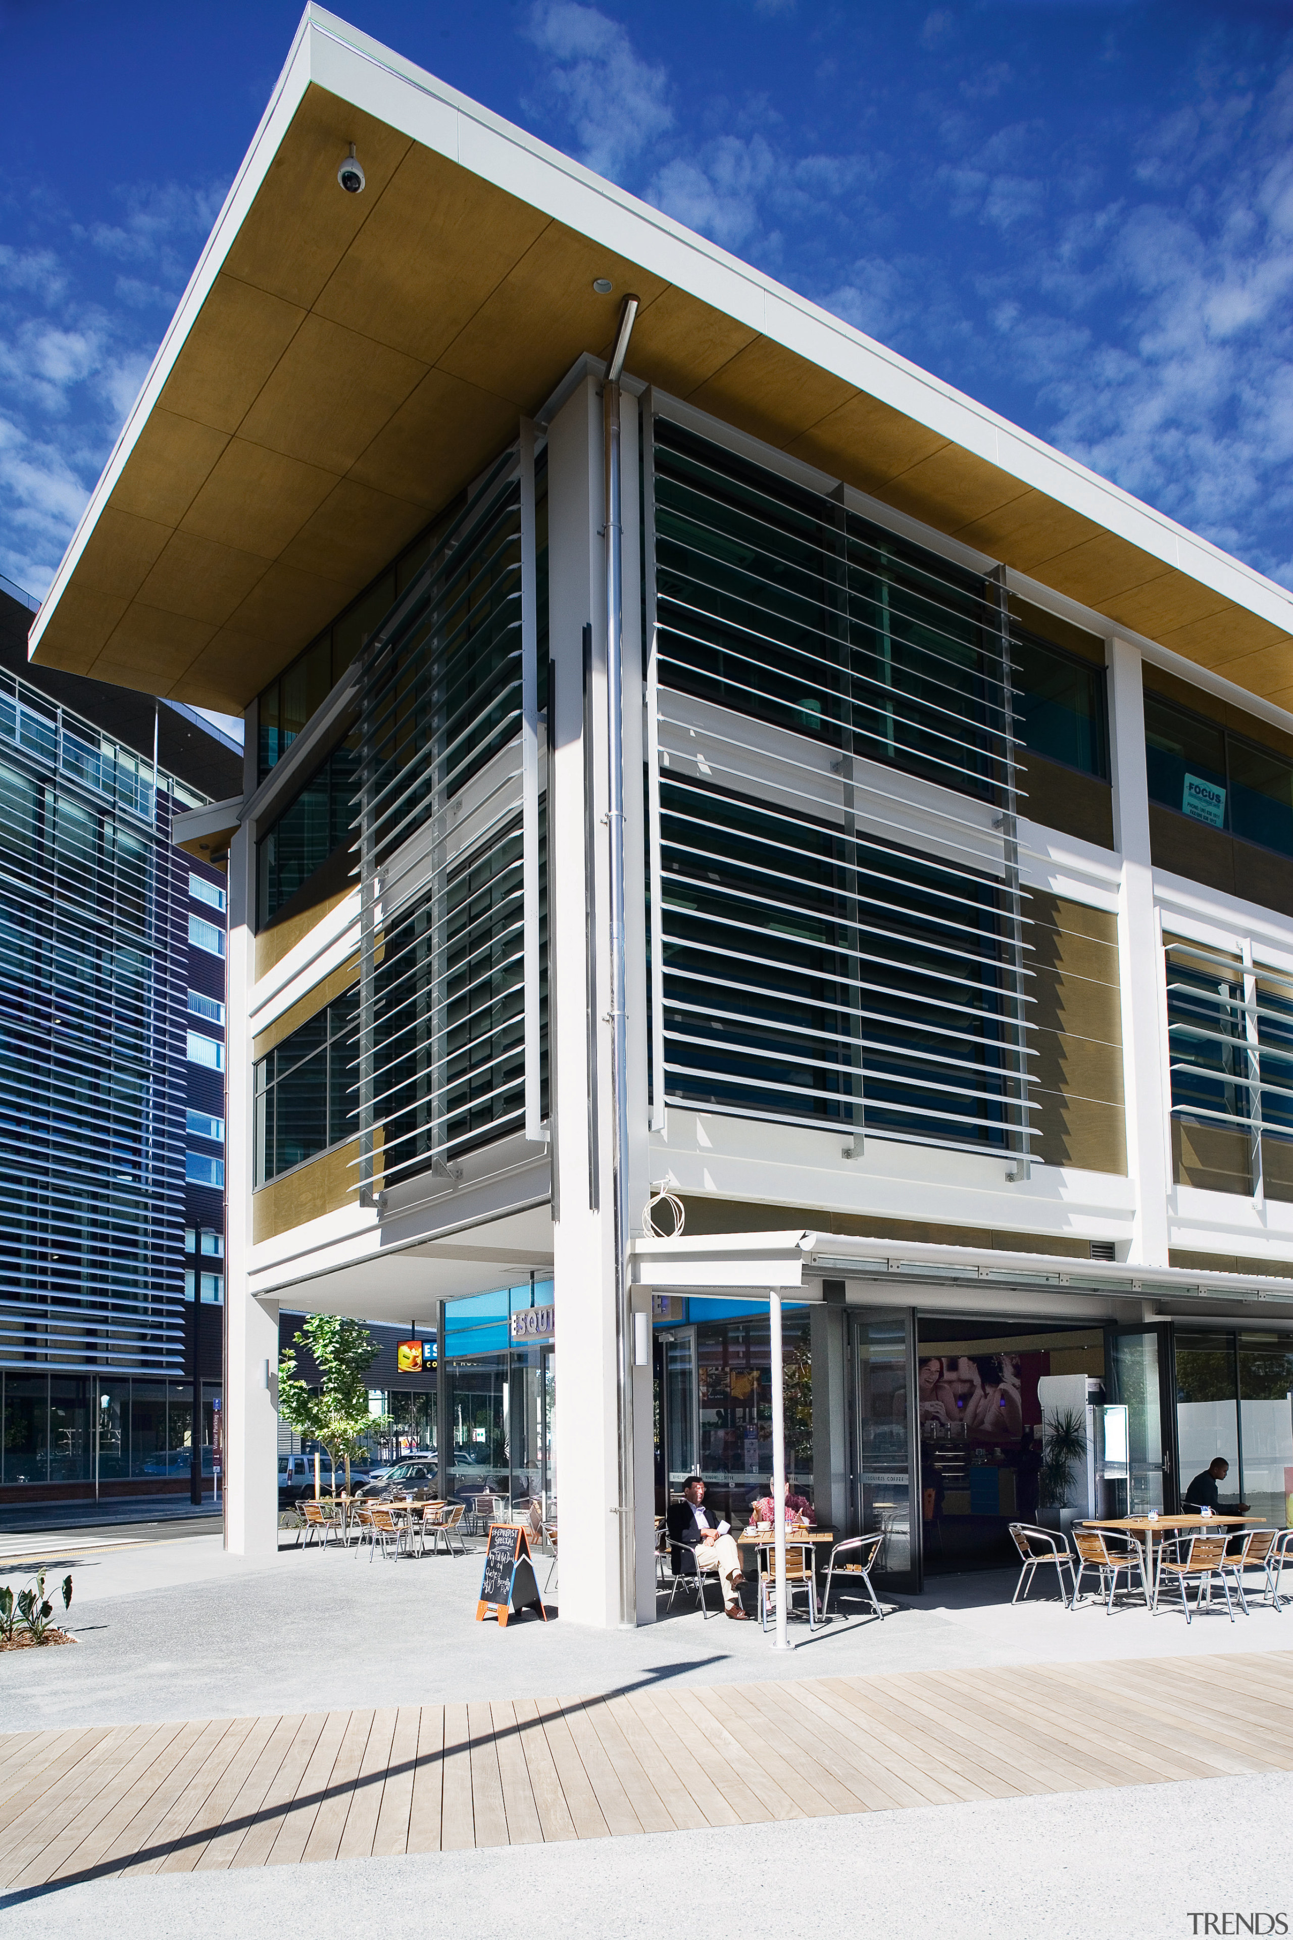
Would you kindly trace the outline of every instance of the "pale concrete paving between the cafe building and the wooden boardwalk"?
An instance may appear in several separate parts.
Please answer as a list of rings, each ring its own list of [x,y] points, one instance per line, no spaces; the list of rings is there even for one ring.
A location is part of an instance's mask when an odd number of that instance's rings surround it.
[[[816,1635],[795,1624],[795,1649],[777,1653],[758,1624],[702,1622],[690,1604],[632,1632],[558,1616],[500,1632],[475,1622],[479,1554],[370,1562],[285,1548],[252,1562],[225,1556],[219,1536],[178,1533],[79,1560],[72,1548],[79,1643],[0,1657],[8,1730],[1293,1647],[1293,1606],[1254,1602],[1233,1624],[1219,1606],[1186,1632],[1179,1610],[1012,1606],[1012,1573],[944,1577],[890,1602],[884,1622],[853,1616]]]

